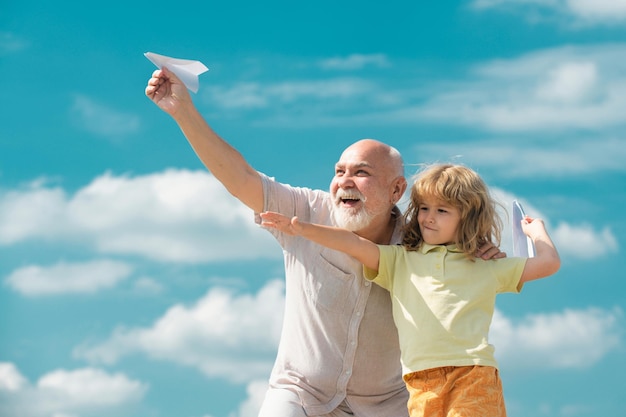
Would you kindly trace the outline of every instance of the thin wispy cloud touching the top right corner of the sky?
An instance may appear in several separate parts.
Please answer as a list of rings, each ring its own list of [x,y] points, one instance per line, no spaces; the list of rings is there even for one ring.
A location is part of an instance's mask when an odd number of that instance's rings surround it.
[[[613,26],[626,21],[624,0],[474,0],[471,7],[510,11],[533,23],[554,22],[570,28]]]

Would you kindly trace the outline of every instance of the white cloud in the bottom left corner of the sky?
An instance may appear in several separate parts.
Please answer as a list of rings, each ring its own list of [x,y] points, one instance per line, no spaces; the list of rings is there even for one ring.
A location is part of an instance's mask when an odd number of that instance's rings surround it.
[[[0,363],[0,371],[11,369],[7,378],[0,372],[0,415],[20,417],[78,416],[82,413],[113,411],[139,402],[148,386],[122,373],[110,374],[97,368],[58,369],[30,384],[14,364]],[[10,390],[7,379],[18,379]]]

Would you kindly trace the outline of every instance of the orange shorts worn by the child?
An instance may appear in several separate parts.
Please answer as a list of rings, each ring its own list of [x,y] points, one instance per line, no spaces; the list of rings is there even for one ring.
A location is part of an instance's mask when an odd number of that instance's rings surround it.
[[[446,366],[404,376],[411,417],[506,417],[502,382],[491,366]]]

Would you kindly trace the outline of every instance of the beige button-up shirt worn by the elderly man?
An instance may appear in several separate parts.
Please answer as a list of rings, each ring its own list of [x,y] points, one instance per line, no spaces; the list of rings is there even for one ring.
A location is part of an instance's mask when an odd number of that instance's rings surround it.
[[[265,210],[332,225],[325,191],[262,175]],[[392,243],[399,243],[401,216]],[[259,219],[257,218],[257,221]],[[298,394],[308,415],[342,401],[359,417],[406,417],[398,333],[389,293],[350,256],[270,230],[283,248],[285,315],[270,386]]]

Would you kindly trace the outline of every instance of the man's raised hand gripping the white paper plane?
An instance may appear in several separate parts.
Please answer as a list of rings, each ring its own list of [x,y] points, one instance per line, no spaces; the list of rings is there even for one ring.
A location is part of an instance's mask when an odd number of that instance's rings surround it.
[[[146,86],[146,96],[170,116],[174,116],[180,106],[191,103],[185,84],[165,67],[152,73]]]

